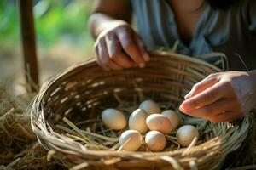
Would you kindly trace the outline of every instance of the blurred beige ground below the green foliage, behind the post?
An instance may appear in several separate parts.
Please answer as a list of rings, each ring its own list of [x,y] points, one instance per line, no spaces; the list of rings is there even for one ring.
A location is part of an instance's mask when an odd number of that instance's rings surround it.
[[[47,78],[64,71],[67,67],[93,57],[92,47],[73,48],[65,42],[60,42],[52,48],[38,48],[38,65],[40,84]],[[5,48],[0,52],[0,81],[11,84],[19,93],[24,92],[20,83],[25,82],[25,72],[21,48]]]

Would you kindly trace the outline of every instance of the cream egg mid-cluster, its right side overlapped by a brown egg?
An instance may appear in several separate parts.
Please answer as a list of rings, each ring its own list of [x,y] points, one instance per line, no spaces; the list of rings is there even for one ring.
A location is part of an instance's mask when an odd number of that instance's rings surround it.
[[[139,133],[146,133],[148,127],[146,124],[148,113],[142,109],[137,109],[131,113],[129,117],[129,128],[137,130]]]

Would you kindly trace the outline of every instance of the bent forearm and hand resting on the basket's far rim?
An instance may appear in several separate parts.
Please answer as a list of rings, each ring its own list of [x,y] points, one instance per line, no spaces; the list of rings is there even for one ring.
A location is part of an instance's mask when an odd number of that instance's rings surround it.
[[[132,30],[128,0],[101,0],[91,14],[89,28],[96,37],[95,51],[104,70],[144,67],[149,60],[143,40]]]

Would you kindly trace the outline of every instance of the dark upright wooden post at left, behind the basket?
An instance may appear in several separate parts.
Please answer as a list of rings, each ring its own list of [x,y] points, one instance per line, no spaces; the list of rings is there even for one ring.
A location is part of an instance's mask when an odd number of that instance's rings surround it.
[[[20,31],[26,82],[32,91],[36,91],[38,88],[38,59],[33,20],[33,3],[32,0],[18,0],[18,3],[20,7]]]

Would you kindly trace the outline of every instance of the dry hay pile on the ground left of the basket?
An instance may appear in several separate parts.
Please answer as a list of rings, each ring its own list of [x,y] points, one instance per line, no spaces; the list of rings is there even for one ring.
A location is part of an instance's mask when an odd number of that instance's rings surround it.
[[[15,96],[0,84],[0,169],[65,169],[65,162],[48,161],[47,151],[32,133],[26,107],[34,96]]]

